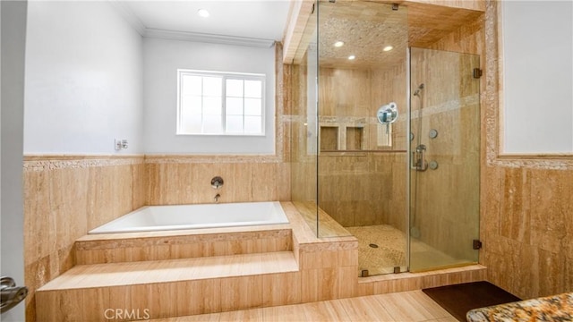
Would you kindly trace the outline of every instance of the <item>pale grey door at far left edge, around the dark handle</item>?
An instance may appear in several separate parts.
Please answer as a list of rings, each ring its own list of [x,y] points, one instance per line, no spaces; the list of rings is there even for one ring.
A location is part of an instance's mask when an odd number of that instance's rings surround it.
[[[22,123],[24,107],[24,45],[26,1],[0,2],[0,213],[2,214],[0,275],[24,285],[24,215],[22,202]],[[23,321],[24,304],[4,312],[3,321]]]

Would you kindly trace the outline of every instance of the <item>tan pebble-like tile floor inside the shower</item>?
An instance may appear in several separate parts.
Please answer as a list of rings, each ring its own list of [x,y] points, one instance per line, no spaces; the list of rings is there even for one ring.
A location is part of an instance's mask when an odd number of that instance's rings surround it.
[[[394,273],[394,267],[406,268],[406,234],[391,225],[346,227],[358,239],[358,275],[363,269],[369,275]],[[432,246],[412,238],[412,258],[416,267],[440,267],[466,261],[452,258]]]

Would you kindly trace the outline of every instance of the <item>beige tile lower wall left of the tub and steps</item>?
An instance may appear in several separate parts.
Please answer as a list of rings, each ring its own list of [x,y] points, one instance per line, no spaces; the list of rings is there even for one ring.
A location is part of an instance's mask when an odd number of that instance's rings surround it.
[[[75,265],[73,242],[146,202],[142,156],[24,157],[26,317],[34,291]]]

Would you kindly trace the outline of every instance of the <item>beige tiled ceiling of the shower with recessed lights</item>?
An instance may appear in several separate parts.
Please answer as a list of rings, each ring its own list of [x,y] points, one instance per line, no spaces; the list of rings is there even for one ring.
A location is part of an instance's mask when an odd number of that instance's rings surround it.
[[[422,2],[398,1],[398,7],[380,1],[322,0],[318,23],[315,14],[299,17],[296,25],[303,36],[298,43],[286,47],[286,64],[301,64],[305,49],[315,41],[319,30],[318,51],[323,67],[386,68],[403,62],[407,47],[433,47],[441,38],[460,28],[479,26],[483,12]],[[313,18],[313,19],[312,19]],[[344,41],[343,47],[334,47]],[[385,52],[383,47],[392,46]],[[348,57],[354,55],[354,60]]]

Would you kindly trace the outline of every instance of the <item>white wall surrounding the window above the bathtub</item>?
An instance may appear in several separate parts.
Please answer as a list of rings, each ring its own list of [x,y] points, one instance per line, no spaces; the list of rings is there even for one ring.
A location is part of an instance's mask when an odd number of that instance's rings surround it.
[[[145,38],[144,149],[149,154],[273,154],[275,148],[275,49]],[[175,135],[177,69],[264,73],[264,137]]]

